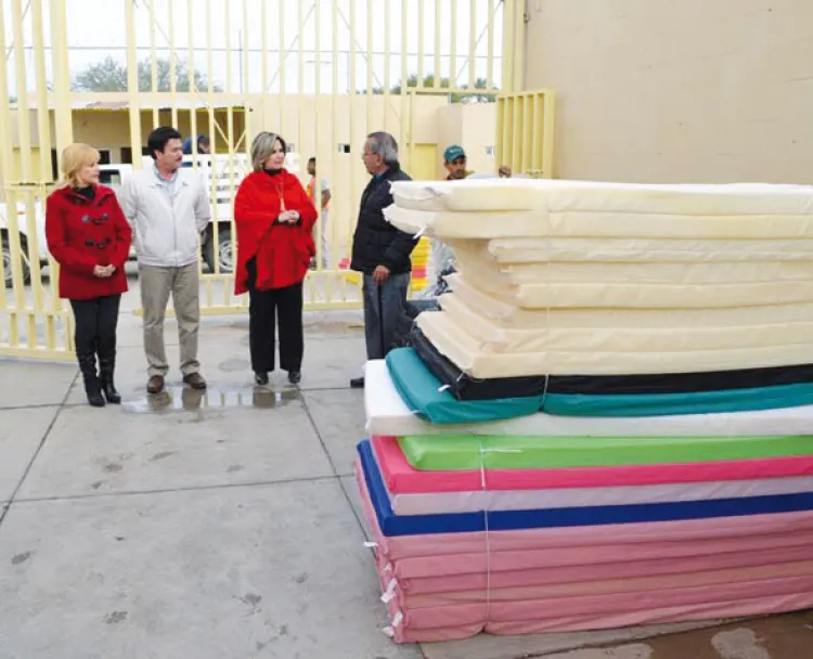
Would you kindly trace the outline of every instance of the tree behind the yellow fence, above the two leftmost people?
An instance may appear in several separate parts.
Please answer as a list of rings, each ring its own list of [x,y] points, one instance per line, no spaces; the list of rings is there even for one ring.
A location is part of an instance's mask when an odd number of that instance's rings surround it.
[[[169,91],[170,65],[169,60],[156,57],[156,91]],[[206,77],[197,69],[193,73],[194,87],[197,91],[206,91],[208,82]],[[150,57],[138,63],[139,91],[152,91],[153,68]],[[189,64],[183,60],[176,61],[175,67],[176,90],[190,91]],[[107,55],[96,64],[91,64],[74,80],[75,91],[127,91],[127,66],[116,62]],[[221,91],[220,87],[214,86],[215,91]]]

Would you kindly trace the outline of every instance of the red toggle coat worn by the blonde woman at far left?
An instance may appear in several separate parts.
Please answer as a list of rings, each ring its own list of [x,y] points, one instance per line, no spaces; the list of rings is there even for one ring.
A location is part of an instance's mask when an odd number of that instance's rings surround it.
[[[67,186],[52,192],[46,204],[46,238],[60,264],[60,297],[89,300],[127,290],[132,230],[109,188],[96,185],[93,199]],[[93,268],[109,264],[116,267],[111,276],[93,275]]]

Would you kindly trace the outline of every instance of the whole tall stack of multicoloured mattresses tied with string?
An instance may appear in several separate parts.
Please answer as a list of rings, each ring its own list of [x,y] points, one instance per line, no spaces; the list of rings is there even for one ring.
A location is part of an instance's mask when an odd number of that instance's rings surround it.
[[[813,606],[813,190],[393,185],[460,273],[366,369],[400,642]]]

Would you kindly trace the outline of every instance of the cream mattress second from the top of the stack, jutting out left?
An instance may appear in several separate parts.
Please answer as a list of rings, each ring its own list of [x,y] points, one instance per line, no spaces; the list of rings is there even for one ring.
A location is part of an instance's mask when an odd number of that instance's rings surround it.
[[[813,238],[813,215],[679,215],[618,211],[412,210],[384,209],[395,227],[412,234],[453,238],[635,237],[635,238]]]

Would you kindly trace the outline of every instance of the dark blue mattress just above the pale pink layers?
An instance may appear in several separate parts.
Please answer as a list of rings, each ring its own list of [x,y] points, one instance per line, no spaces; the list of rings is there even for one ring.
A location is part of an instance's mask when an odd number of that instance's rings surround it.
[[[813,509],[813,493],[715,499],[675,503],[547,508],[538,511],[494,511],[490,513],[454,513],[444,515],[399,516],[392,512],[386,486],[373,455],[370,441],[357,445],[364,481],[375,508],[378,526],[387,537],[424,533],[464,533],[485,531],[486,517],[491,531],[581,527],[607,524],[671,521],[710,517],[740,517],[770,513]]]

